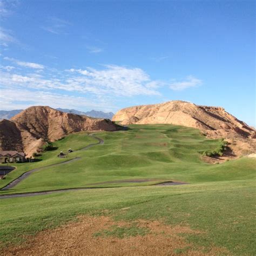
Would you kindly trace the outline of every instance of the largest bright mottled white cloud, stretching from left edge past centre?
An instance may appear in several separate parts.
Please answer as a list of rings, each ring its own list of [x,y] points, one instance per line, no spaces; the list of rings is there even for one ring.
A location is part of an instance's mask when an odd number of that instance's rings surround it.
[[[102,70],[70,69],[62,77],[43,74],[0,73],[0,83],[8,86],[23,86],[32,89],[63,90],[90,93],[97,97],[131,97],[137,95],[160,95],[156,90],[158,82],[153,82],[142,69],[107,65]]]

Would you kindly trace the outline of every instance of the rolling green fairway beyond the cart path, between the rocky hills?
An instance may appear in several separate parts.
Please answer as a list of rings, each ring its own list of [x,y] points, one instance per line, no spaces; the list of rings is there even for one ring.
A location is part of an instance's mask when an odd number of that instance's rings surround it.
[[[103,145],[69,155],[69,158],[81,159],[32,173],[12,190],[1,191],[1,194],[90,186],[142,186],[166,180],[197,183],[254,176],[255,165],[252,159],[243,158],[220,165],[204,163],[199,152],[216,149],[221,140],[207,139],[196,129],[174,125],[132,125],[130,128],[128,131],[97,133],[98,137],[104,139]],[[91,140],[95,141],[85,133],[77,133],[59,140],[55,145],[58,151],[69,147],[79,149],[91,143]],[[38,162],[38,165],[60,161],[56,157],[57,152],[44,153],[44,160]],[[23,165],[27,170],[31,166]],[[15,176],[15,172],[22,172],[22,167],[18,166],[10,178]],[[105,181],[130,179],[151,181],[95,185]]]

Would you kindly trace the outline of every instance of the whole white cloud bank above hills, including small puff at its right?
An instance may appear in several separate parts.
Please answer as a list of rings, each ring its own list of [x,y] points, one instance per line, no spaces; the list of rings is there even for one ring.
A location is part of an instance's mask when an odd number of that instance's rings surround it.
[[[160,93],[163,88],[183,90],[202,83],[200,79],[189,76],[183,82],[170,85],[165,81],[151,79],[142,69],[127,66],[104,65],[100,69],[60,71],[47,67],[41,69],[42,66],[36,63],[31,65],[13,58],[5,59],[19,65],[17,68],[1,66],[0,69],[0,101],[5,102],[5,108],[21,108],[18,102],[22,108],[39,104],[114,110],[116,102],[120,100],[132,100],[136,96],[163,97]],[[34,70],[25,69],[28,66]],[[1,97],[8,98],[8,101],[1,100]]]

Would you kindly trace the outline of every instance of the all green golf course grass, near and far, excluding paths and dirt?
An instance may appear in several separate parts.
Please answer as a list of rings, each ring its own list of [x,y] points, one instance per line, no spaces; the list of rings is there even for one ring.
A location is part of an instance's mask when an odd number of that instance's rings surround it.
[[[194,246],[204,246],[206,252],[216,246],[227,248],[231,254],[256,254],[255,159],[243,157],[223,164],[206,164],[198,151],[212,150],[220,140],[206,139],[198,130],[183,126],[133,125],[129,131],[100,132],[97,136],[104,139],[103,145],[73,153],[82,159],[33,173],[10,192],[0,194],[83,187],[122,179],[180,180],[190,184],[113,183],[99,186],[123,187],[0,199],[2,246],[75,220],[80,214],[107,214],[117,220],[149,219],[189,225],[204,233],[186,235],[186,239]],[[59,149],[43,154],[44,160],[35,165],[58,161],[56,153],[60,149],[75,149],[75,145],[79,149],[93,142],[84,133],[72,134],[56,142]],[[29,170],[29,164],[13,173],[22,172],[22,168]],[[116,228],[111,232],[122,237],[137,231]],[[99,233],[109,234],[104,230]]]

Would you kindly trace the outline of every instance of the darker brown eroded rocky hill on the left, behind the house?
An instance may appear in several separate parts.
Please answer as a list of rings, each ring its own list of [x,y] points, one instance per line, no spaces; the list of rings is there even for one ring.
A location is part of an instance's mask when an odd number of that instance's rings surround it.
[[[0,150],[24,151],[28,156],[49,140],[79,131],[116,131],[109,119],[64,113],[49,106],[32,106],[10,120],[0,122]]]

